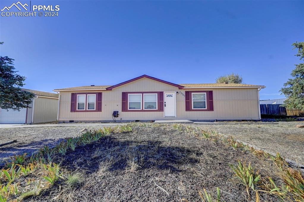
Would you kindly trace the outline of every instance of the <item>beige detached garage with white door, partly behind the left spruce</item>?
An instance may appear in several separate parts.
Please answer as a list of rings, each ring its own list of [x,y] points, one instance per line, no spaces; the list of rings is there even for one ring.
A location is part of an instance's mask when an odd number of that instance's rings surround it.
[[[57,120],[58,94],[22,89],[35,94],[32,103],[20,111],[0,109],[0,123],[43,123]]]

